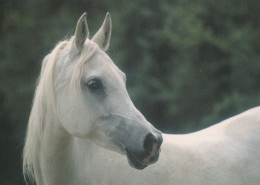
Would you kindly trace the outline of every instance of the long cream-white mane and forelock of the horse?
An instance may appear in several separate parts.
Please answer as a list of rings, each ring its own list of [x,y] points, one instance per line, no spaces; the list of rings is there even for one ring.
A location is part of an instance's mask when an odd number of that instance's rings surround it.
[[[34,167],[37,161],[36,146],[40,144],[44,123],[58,122],[58,112],[56,109],[56,95],[54,87],[55,66],[59,57],[71,48],[70,41],[59,42],[56,47],[43,59],[41,74],[35,91],[32,110],[28,122],[25,147],[23,151],[23,173],[24,177],[34,181]],[[97,45],[87,40],[87,47],[83,48],[82,54],[76,61],[73,71],[70,90],[79,89],[81,71],[83,65],[94,54]],[[66,53],[65,53],[66,54]]]

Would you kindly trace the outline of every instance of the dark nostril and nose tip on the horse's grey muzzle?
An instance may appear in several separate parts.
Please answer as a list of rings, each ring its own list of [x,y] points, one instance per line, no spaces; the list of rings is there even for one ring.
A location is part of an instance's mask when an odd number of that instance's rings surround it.
[[[152,133],[147,134],[147,136],[144,139],[144,150],[150,154],[157,151],[162,144],[162,135],[154,135]]]

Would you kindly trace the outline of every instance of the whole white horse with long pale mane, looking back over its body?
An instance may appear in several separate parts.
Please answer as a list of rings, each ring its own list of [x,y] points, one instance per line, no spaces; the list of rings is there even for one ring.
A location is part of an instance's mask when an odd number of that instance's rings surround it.
[[[43,60],[25,176],[38,185],[260,184],[260,108],[199,132],[163,134],[159,152],[161,133],[135,108],[125,74],[105,53],[111,28],[107,14],[89,40],[83,14],[74,37]]]

